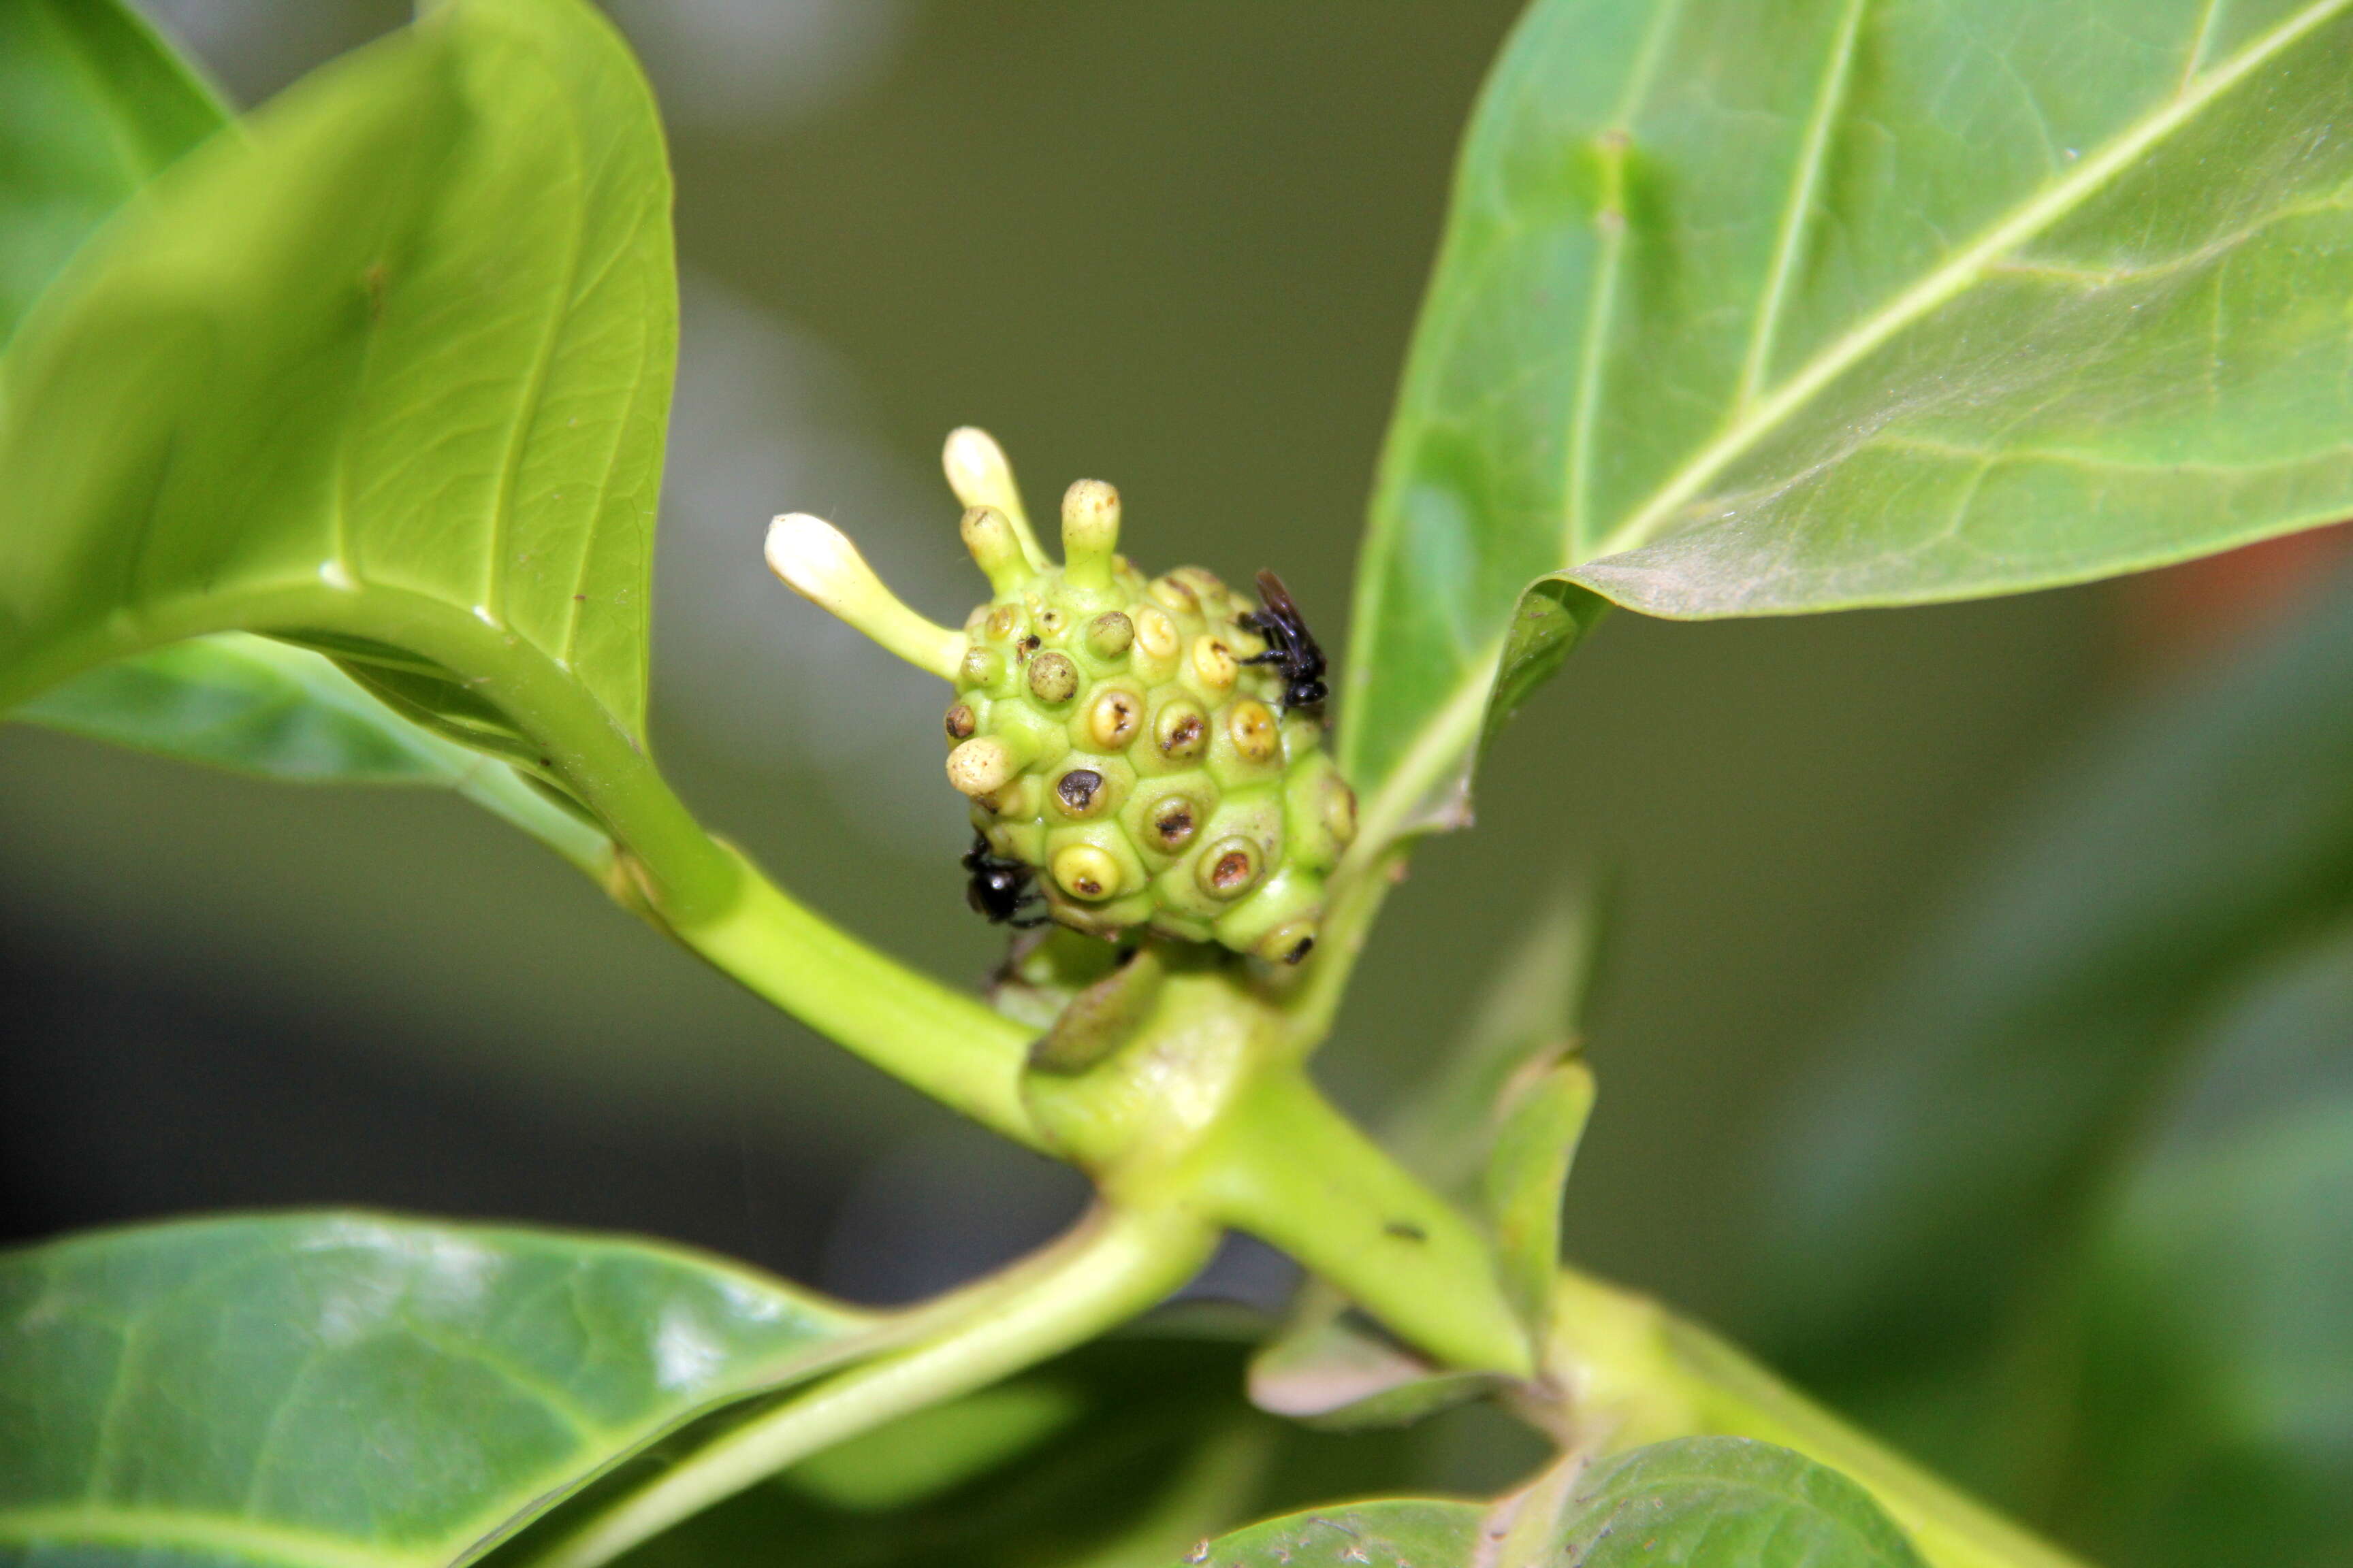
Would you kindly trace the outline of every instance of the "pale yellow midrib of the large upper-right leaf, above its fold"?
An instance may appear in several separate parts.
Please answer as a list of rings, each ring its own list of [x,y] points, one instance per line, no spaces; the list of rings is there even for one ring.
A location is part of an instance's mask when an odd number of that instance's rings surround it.
[[[1842,331],[1774,393],[1765,395],[1746,414],[1737,416],[1722,435],[1692,454],[1692,458],[1675,470],[1675,475],[1652,491],[1652,498],[1640,510],[1602,536],[1600,548],[1593,555],[1617,555],[1649,543],[1659,529],[1675,517],[1675,512],[1699,496],[1708,480],[1718,477],[1739,456],[1777,430],[1791,414],[1805,407],[1814,393],[1842,376],[1899,331],[1974,284],[1979,273],[2005,252],[2024,244],[2059,219],[2075,212],[2075,207],[2106,186],[2111,176],[2141,158],[2155,143],[2165,141],[2172,132],[2195,120],[2200,110],[2238,87],[2275,54],[2294,47],[2301,38],[2344,14],[2348,7],[2353,7],[2353,0],[2315,0],[2299,14],[2271,28],[2271,33],[2240,49],[2228,63],[2193,78],[2158,113],[2127,127],[2099,153],[2085,158],[2073,174],[2019,207],[2009,219],[1988,228],[1974,242],[1920,277],[1913,287],[1904,289],[1887,306]],[[1569,564],[1577,567],[1581,562]]]

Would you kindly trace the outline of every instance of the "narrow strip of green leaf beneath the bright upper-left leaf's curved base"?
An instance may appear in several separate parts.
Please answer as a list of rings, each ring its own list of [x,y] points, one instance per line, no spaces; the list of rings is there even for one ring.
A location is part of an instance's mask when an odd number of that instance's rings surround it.
[[[9,717],[289,783],[438,785],[591,875],[612,863],[602,832],[515,769],[409,724],[322,656],[249,632],[99,665]]]

